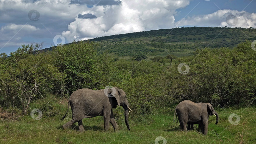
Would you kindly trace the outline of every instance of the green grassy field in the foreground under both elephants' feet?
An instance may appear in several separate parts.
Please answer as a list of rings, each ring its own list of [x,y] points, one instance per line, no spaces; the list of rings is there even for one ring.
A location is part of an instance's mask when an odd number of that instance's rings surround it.
[[[130,117],[131,130],[128,131],[124,117],[116,119],[119,130],[110,129],[104,132],[103,117],[83,119],[83,133],[78,132],[78,124],[71,129],[63,129],[62,125],[71,119],[71,110],[64,121],[60,118],[67,107],[66,99],[53,99],[52,111],[44,112],[40,120],[30,116],[19,117],[17,120],[0,121],[0,143],[150,143],[154,144],[158,136],[167,143],[256,143],[256,111],[255,106],[244,108],[215,108],[219,113],[219,123],[215,125],[216,117],[209,117],[208,135],[202,135],[198,126],[189,132],[180,130],[179,123],[173,122],[174,108],[161,108],[152,115]],[[31,109],[46,103],[38,100],[31,104]],[[43,109],[41,107],[41,109]],[[136,111],[136,110],[135,110]],[[49,116],[49,113],[53,113]],[[229,115],[235,113],[241,118],[238,125],[229,123]],[[236,118],[232,119],[236,121]],[[164,141],[160,140],[159,143]]]

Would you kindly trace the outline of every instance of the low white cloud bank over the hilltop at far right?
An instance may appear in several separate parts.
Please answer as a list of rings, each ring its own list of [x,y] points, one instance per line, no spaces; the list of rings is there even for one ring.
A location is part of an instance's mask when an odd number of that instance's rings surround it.
[[[256,28],[256,14],[230,9],[218,10],[212,14],[195,15],[175,22],[179,26],[244,27]]]

